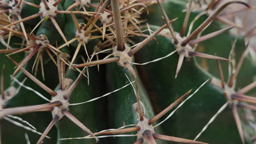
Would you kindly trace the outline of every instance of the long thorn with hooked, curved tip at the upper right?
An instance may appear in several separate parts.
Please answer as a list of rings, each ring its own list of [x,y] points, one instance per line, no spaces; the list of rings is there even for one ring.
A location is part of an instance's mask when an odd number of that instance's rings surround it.
[[[215,17],[223,11],[223,9],[225,9],[228,5],[232,4],[232,3],[240,3],[243,5],[246,5],[246,7],[251,8],[245,1],[228,1],[223,3],[222,5],[220,5],[219,8],[217,8],[199,27],[197,27],[195,29],[195,31],[193,33],[191,33],[185,40],[182,41],[182,46],[185,46],[189,43],[190,40],[192,40],[193,38],[196,37],[197,34],[199,34],[202,29],[204,29],[210,22],[212,22]]]

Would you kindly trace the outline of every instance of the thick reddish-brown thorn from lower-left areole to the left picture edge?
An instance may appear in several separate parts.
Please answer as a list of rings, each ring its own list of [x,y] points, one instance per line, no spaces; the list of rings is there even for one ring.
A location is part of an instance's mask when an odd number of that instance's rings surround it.
[[[0,110],[0,118],[3,118],[7,115],[20,115],[22,113],[29,113],[38,110],[48,109],[54,106],[61,105],[60,101],[55,101],[53,103],[41,104],[41,105],[32,105],[32,106],[20,106],[9,109]]]

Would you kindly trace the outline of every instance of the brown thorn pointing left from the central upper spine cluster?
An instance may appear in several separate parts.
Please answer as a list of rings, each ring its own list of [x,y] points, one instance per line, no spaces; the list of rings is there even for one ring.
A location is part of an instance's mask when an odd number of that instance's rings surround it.
[[[119,57],[112,57],[112,58],[107,58],[107,59],[101,59],[101,60],[98,60],[98,61],[92,61],[92,62],[88,62],[88,63],[73,65],[72,67],[73,68],[81,68],[81,67],[88,67],[88,66],[98,65],[98,64],[118,62],[119,59],[120,59]]]

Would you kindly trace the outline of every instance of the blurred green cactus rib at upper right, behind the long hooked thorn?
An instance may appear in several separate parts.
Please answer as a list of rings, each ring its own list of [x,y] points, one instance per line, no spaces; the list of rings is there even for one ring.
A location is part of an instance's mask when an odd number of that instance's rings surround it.
[[[174,19],[178,17],[178,20],[172,23],[174,31],[179,32],[180,29],[182,28],[182,24],[184,21],[185,13],[181,13],[180,11],[184,10],[187,8],[186,6],[187,2],[186,1],[175,1],[175,0],[170,0],[167,1],[166,3],[162,4],[162,7],[164,7],[169,19]],[[156,25],[156,26],[162,26],[165,24],[164,21],[161,20],[161,17],[158,16],[158,14],[161,14],[161,10],[157,4],[150,5],[149,9],[149,15],[146,15],[146,19],[148,19],[148,23],[150,25]],[[194,18],[200,14],[201,11],[195,11],[190,14],[190,19],[188,24],[191,23],[191,21],[194,20]],[[200,26],[200,24],[207,19],[207,15],[202,15],[200,19],[198,19],[193,26],[192,32],[194,31],[195,28]],[[215,31],[218,31],[220,28],[227,27],[224,25],[224,23],[219,22],[219,21],[213,21],[210,26],[208,26],[205,31],[203,31],[202,35],[212,33]],[[188,28],[187,28],[188,32]],[[245,41],[243,40],[242,37],[238,35],[232,35],[229,32],[225,32],[223,34],[217,35],[216,37],[213,37],[209,40],[202,41],[199,43],[197,46],[197,51],[207,53],[209,55],[214,55],[214,53],[217,54],[217,56],[228,58],[229,53],[232,47],[233,41],[237,39],[236,41],[236,47],[235,47],[235,53],[236,58],[235,61],[238,62],[238,59],[241,57],[241,53],[243,51],[243,47],[245,46]],[[226,41],[229,41],[227,43]],[[215,77],[219,77],[219,71],[217,69],[216,61],[212,61],[212,59],[205,59],[205,58],[200,58],[196,57],[196,61],[202,65],[202,62],[206,61],[206,67],[203,69],[207,69],[208,73],[211,73]],[[240,74],[238,74],[237,77],[237,88],[242,88],[248,85],[248,83],[253,82],[253,79],[244,79],[244,75],[247,75],[248,77],[254,77],[255,76],[255,70],[256,70],[256,65],[255,62],[253,62],[252,58],[250,56],[247,56],[245,59],[245,63],[242,65]],[[225,81],[228,80],[228,64],[222,62],[223,66],[223,72],[224,72],[224,78]],[[255,96],[256,90],[252,90],[249,94],[254,94]]]

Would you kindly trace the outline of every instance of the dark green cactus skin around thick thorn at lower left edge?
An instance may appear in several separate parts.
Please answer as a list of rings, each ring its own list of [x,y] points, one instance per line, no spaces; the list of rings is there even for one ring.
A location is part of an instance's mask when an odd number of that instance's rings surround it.
[[[31,70],[32,69],[33,62],[30,62],[26,65],[26,69]],[[45,65],[45,69],[57,71],[56,66],[53,63],[48,63]],[[9,73],[9,76],[13,74],[13,71]],[[45,71],[45,76],[50,77],[50,79],[46,79],[44,81],[45,85],[48,85],[51,88],[56,87],[57,85],[57,75],[56,73],[52,73],[52,71]],[[23,73],[19,73],[17,76],[15,76],[20,82],[25,79],[26,75]],[[8,79],[7,79],[8,80]],[[39,80],[42,80],[42,77],[39,77]],[[14,87],[18,87],[18,83],[11,81],[11,85]],[[24,85],[31,87],[33,89],[36,89],[39,93],[43,94],[46,98],[50,99],[50,95],[46,93],[42,88],[35,85],[33,81],[30,79],[27,79]],[[5,85],[9,86],[9,85]],[[16,107],[16,106],[26,106],[26,105],[35,105],[35,104],[44,104],[45,100],[38,97],[34,92],[28,91],[25,88],[21,88],[19,93],[15,95],[13,99],[10,99],[5,106],[8,107]],[[27,113],[25,115],[18,115],[25,121],[31,123],[39,132],[43,132],[45,127],[50,123],[51,121],[51,113],[49,112],[33,112],[33,113]],[[18,141],[21,141],[22,143],[25,143],[24,134],[28,133],[28,136],[30,137],[31,143],[36,143],[39,139],[39,135],[34,134],[30,131],[24,130],[20,127],[16,127],[16,125],[13,125],[12,123],[6,122],[5,120],[2,121],[4,127],[2,127],[2,142],[3,143],[16,143]],[[6,126],[5,126],[6,125]],[[51,139],[45,139],[45,143],[55,143],[56,142],[56,128],[54,128],[52,131],[50,131],[49,135]],[[14,139],[15,137],[15,139]]]

